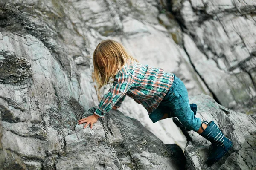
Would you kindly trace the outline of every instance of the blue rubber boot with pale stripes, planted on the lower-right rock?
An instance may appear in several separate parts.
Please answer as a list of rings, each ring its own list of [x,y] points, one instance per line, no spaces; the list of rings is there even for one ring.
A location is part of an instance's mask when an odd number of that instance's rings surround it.
[[[223,135],[214,121],[211,121],[210,123],[203,121],[202,124],[203,123],[207,124],[207,128],[200,135],[212,143],[211,153],[207,159],[208,165],[211,165],[222,158],[225,153],[230,150],[233,144],[230,139]]]

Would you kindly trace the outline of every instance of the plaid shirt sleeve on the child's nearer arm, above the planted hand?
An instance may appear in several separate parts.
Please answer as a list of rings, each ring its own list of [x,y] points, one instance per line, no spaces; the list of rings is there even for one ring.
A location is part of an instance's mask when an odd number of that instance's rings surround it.
[[[113,106],[122,99],[130,87],[131,78],[128,75],[119,72],[118,76],[116,76],[116,79],[113,82],[113,85],[108,90],[108,94],[104,95],[99,102],[94,114],[98,115],[99,117],[104,117],[106,113],[109,112]]]

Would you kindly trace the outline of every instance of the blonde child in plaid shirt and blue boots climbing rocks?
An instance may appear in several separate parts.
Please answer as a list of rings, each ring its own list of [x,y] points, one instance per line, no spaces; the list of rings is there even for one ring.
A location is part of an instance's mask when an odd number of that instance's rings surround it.
[[[87,122],[84,128],[90,124],[92,129],[98,118],[104,117],[112,108],[119,108],[128,95],[147,109],[153,122],[177,117],[186,128],[211,141],[213,153],[208,158],[209,164],[218,161],[232,147],[232,142],[213,121],[201,122],[195,117],[186,87],[173,73],[138,63],[121,44],[113,40],[98,44],[93,53],[93,66],[99,89],[112,83],[111,78],[114,80],[94,114],[78,121],[79,124]]]

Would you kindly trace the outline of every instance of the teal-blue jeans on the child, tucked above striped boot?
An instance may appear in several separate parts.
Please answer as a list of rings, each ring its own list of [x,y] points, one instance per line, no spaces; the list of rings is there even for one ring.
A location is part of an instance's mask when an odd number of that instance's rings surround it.
[[[168,113],[169,118],[177,117],[190,130],[197,132],[201,126],[201,119],[196,118],[194,112],[190,109],[186,87],[177,76],[174,76],[171,88],[157,109],[149,114],[149,118],[155,123],[166,113]]]

